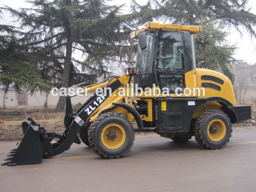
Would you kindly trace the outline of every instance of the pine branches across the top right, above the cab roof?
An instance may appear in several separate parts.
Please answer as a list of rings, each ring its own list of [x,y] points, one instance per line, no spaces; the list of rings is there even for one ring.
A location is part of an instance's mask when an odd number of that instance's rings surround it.
[[[251,9],[246,10],[247,5],[248,0],[163,0],[159,10],[160,15],[174,24],[201,25],[205,19],[217,20],[238,30],[244,27],[256,37],[253,30],[256,15],[250,12]]]

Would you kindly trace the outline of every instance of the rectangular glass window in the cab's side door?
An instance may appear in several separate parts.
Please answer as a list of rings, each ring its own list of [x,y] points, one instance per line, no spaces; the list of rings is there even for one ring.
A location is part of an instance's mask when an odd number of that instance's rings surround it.
[[[184,69],[182,33],[171,31],[159,33],[158,69]]]

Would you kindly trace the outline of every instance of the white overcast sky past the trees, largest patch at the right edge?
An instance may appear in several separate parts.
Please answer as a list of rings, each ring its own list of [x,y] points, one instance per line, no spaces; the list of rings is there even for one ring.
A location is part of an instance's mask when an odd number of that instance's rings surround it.
[[[138,0],[137,2],[140,5],[145,5],[147,0]],[[111,2],[112,5],[127,4],[126,9],[128,11],[130,10],[130,3],[130,0],[113,0]],[[0,5],[1,4],[8,5],[12,8],[20,8],[28,5],[24,0],[0,0]],[[256,14],[255,0],[249,0],[248,7],[251,8],[252,13]],[[256,38],[251,37],[250,34],[243,29],[241,29],[243,36],[241,36],[241,34],[234,28],[225,29],[225,31],[229,33],[227,37],[228,42],[230,42],[231,45],[236,45],[238,48],[233,57],[238,60],[244,60],[249,65],[256,63]],[[254,28],[254,31],[256,31],[256,27]]]

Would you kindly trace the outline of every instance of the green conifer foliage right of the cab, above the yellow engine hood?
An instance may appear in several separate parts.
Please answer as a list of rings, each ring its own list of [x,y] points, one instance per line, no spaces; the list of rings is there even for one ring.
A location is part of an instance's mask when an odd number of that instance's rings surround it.
[[[204,61],[203,68],[222,70],[234,82],[234,75],[230,68],[236,59],[232,57],[236,46],[227,43],[228,33],[216,29],[214,23],[204,24],[203,31],[194,35],[196,62]]]

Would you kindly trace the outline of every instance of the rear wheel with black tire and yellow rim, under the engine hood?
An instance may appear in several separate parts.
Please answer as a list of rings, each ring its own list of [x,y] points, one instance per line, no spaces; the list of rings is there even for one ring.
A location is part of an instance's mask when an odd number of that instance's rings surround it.
[[[222,148],[229,142],[232,124],[228,116],[219,110],[202,113],[196,120],[194,135],[197,142],[209,150]]]

